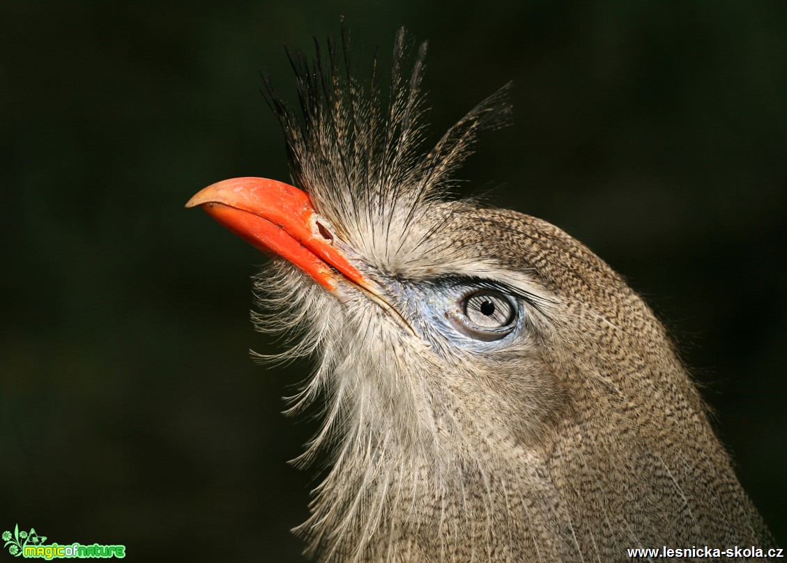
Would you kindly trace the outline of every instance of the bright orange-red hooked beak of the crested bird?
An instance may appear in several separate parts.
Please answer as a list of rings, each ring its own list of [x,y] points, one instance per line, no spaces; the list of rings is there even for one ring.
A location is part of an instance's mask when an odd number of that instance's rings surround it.
[[[198,192],[186,204],[208,215],[255,248],[290,260],[326,289],[342,276],[368,282],[337,248],[306,193],[267,178],[232,178]]]

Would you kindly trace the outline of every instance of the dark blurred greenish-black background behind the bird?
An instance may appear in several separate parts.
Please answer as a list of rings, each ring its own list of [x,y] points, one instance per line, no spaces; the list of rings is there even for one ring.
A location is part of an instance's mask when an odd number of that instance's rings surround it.
[[[0,530],[139,561],[301,561],[309,373],[249,323],[265,259],[183,204],[288,179],[259,71],[347,17],[363,73],[430,40],[434,138],[515,82],[468,193],[584,241],[682,344],[787,543],[787,3],[0,4]],[[378,49],[379,47],[379,49]],[[3,556],[0,556],[3,557]],[[6,554],[6,557],[9,557]]]

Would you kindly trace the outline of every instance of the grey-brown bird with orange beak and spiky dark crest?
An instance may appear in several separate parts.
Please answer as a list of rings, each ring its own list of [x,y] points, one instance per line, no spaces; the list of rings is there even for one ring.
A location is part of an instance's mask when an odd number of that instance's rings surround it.
[[[294,530],[305,554],[775,557],[645,301],[557,226],[453,195],[512,86],[425,149],[426,42],[397,32],[387,87],[376,55],[357,77],[343,21],[315,49],[287,50],[297,105],[264,79],[291,184],[232,178],[187,203],[272,256],[253,322],[286,336],[273,359],[314,359],[288,411],[320,406],[297,462],[329,462]]]

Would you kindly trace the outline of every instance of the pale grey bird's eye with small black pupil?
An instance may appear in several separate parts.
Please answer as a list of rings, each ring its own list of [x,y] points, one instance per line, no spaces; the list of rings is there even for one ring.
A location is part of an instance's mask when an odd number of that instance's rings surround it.
[[[471,293],[453,315],[454,326],[476,340],[500,340],[515,326],[516,307],[502,293],[482,289]]]

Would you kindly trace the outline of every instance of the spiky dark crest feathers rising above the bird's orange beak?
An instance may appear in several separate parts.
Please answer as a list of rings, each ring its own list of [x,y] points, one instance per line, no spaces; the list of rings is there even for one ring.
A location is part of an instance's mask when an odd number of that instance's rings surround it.
[[[387,98],[379,83],[377,57],[363,83],[350,61],[349,29],[342,20],[341,50],[327,39],[327,54],[315,38],[312,61],[286,50],[296,82],[293,109],[264,77],[268,104],[281,123],[296,186],[340,230],[368,223],[390,224],[394,209],[415,209],[450,186],[453,173],[479,131],[511,120],[511,83],[497,90],[447,131],[430,151],[423,149],[423,72],[427,42],[414,43],[404,28],[393,45]]]

